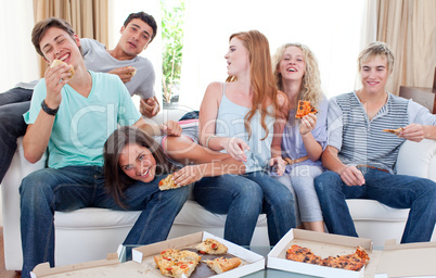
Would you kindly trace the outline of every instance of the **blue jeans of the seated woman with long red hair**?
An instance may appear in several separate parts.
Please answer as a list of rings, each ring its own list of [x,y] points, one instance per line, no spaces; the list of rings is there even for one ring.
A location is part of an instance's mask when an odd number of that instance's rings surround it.
[[[225,239],[240,245],[249,245],[260,213],[271,245],[296,225],[291,191],[264,172],[202,178],[194,197],[209,212],[227,214]]]

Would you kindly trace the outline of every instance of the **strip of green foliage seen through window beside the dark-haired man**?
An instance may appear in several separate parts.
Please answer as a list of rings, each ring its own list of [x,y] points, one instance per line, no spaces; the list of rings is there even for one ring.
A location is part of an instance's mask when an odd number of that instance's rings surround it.
[[[162,88],[164,100],[171,101],[174,88],[180,84],[183,50],[184,0],[168,7],[161,0],[162,11]]]

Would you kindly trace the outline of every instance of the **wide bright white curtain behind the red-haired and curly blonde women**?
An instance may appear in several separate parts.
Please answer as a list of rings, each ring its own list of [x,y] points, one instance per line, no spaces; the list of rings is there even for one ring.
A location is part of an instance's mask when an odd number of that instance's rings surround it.
[[[180,105],[197,110],[207,85],[226,79],[229,37],[248,29],[268,37],[271,54],[285,42],[307,45],[328,97],[354,90],[357,56],[372,39],[369,7],[367,0],[188,0]]]

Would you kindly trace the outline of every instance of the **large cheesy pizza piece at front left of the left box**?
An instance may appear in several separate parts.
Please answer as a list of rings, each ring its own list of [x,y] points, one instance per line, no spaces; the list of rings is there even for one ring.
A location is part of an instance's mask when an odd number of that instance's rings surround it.
[[[167,277],[190,277],[202,257],[192,251],[167,249],[154,256],[154,262],[161,273]]]

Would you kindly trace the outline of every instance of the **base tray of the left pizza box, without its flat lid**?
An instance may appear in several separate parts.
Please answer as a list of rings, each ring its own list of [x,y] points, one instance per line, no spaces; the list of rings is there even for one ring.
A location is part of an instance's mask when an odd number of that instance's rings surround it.
[[[131,251],[132,261],[144,265],[150,271],[148,273],[148,277],[164,277],[155,266],[153,256],[159,254],[165,249],[184,249],[184,248],[193,248],[203,240],[211,238],[221,243],[223,243],[228,248],[228,252],[231,255],[238,256],[242,260],[241,266],[234,268],[232,270],[214,275],[213,277],[219,278],[233,278],[241,277],[244,275],[248,275],[255,273],[260,269],[265,269],[265,257],[256,254],[247,249],[244,249],[238,244],[234,244],[230,241],[227,241],[222,238],[216,237],[206,231],[201,231],[175,239],[169,239],[162,242],[156,242],[149,245],[143,245],[139,248],[134,248]],[[155,276],[152,276],[155,274]],[[195,273],[194,273],[195,274]],[[210,276],[211,277],[211,276]]]

